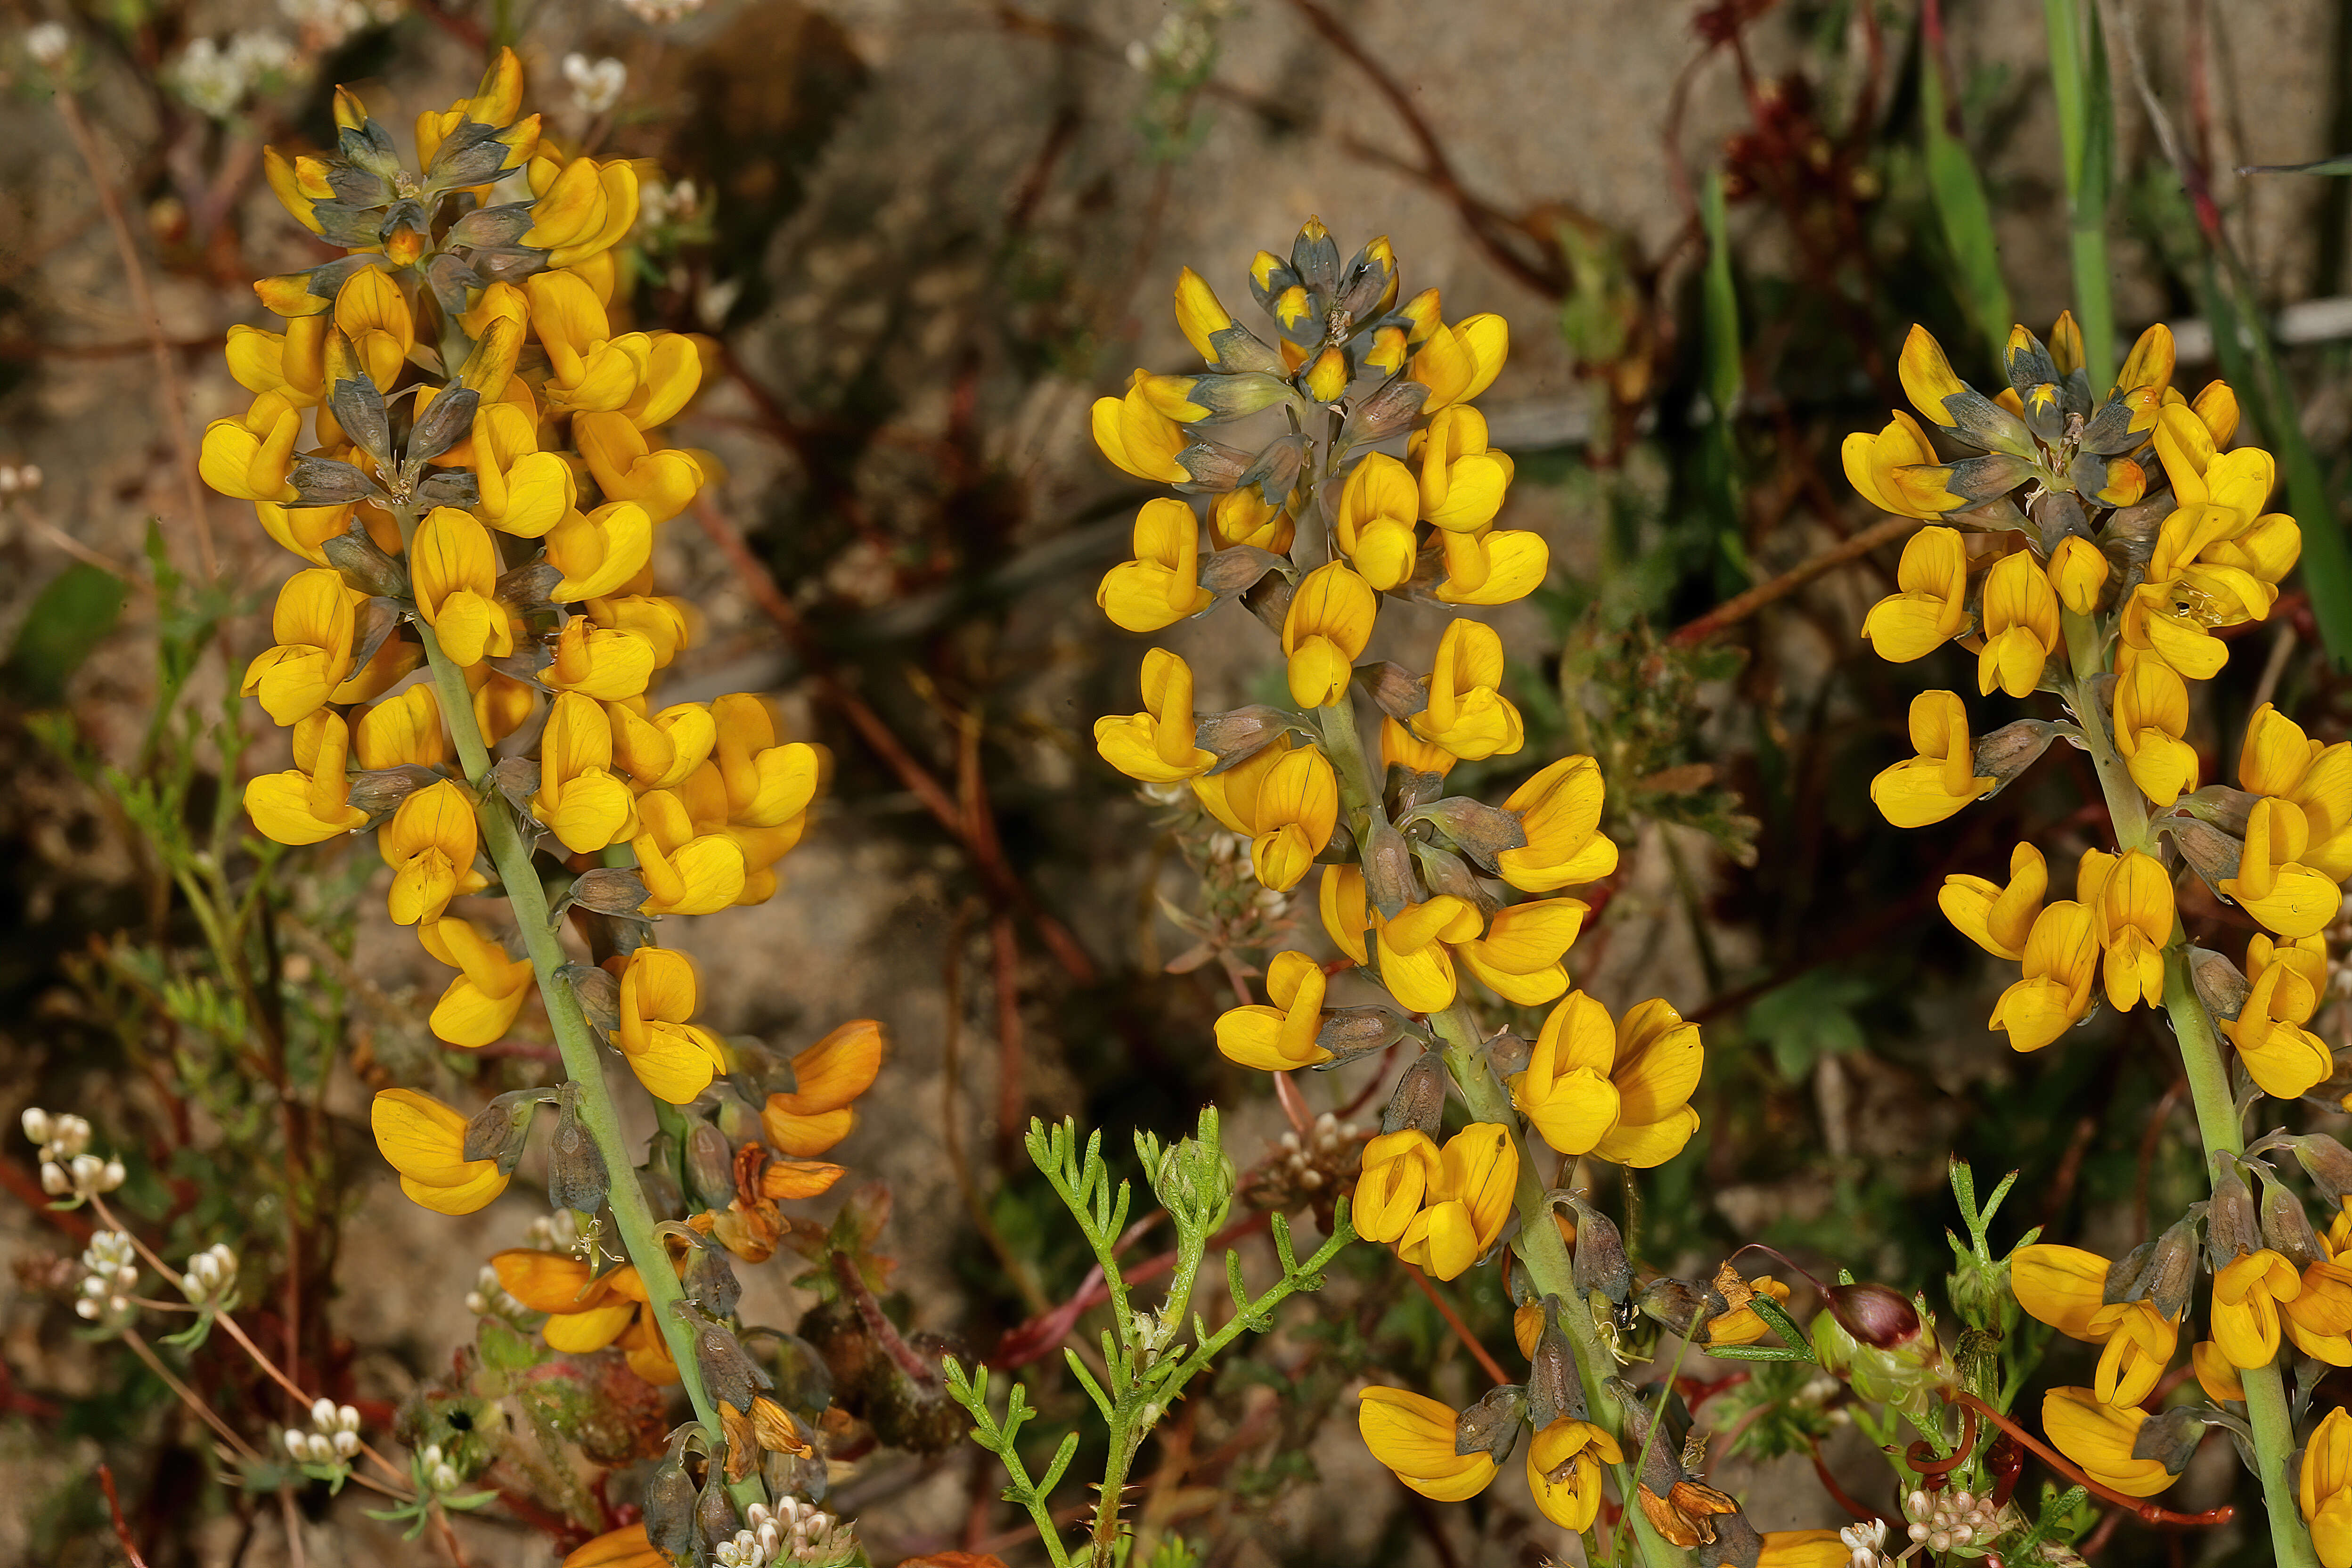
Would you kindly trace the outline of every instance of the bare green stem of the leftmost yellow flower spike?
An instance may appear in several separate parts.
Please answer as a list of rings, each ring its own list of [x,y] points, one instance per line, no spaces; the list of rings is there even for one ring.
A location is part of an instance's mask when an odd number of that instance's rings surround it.
[[[414,529],[402,531],[412,534]],[[670,1359],[677,1361],[677,1378],[687,1385],[687,1399],[694,1401],[694,1418],[713,1434],[720,1434],[717,1406],[710,1403],[701,1366],[694,1361],[694,1328],[677,1314],[677,1302],[684,1300],[684,1293],[677,1288],[677,1269],[670,1265],[668,1246],[654,1234],[654,1213],[644,1206],[644,1192],[637,1187],[637,1161],[621,1140],[621,1114],[614,1110],[612,1091],[604,1086],[604,1056],[597,1051],[586,1013],[581,1013],[579,994],[557,973],[569,959],[564,957],[562,940],[555,936],[555,919],[548,914],[548,891],[539,882],[532,844],[522,837],[513,813],[506,811],[489,785],[489,748],[482,745],[482,731],[473,719],[473,696],[466,691],[466,672],[442,654],[430,625],[416,621],[416,635],[426,644],[426,663],[433,670],[433,686],[440,693],[442,722],[449,726],[459,764],[466,769],[466,783],[473,785],[477,799],[475,816],[482,823],[482,846],[489,851],[492,865],[499,867],[499,882],[506,884],[506,900],[515,910],[515,926],[522,931],[522,947],[532,957],[532,973],[539,978],[539,999],[548,1006],[548,1025],[555,1030],[555,1048],[564,1058],[564,1074],[581,1086],[581,1126],[595,1138],[595,1147],[604,1157],[604,1171],[612,1178],[612,1218],[621,1232],[621,1251],[637,1265],[637,1279],[644,1284],[644,1309],[661,1331]],[[734,1495],[736,1507],[767,1500],[757,1472],[727,1490]]]

